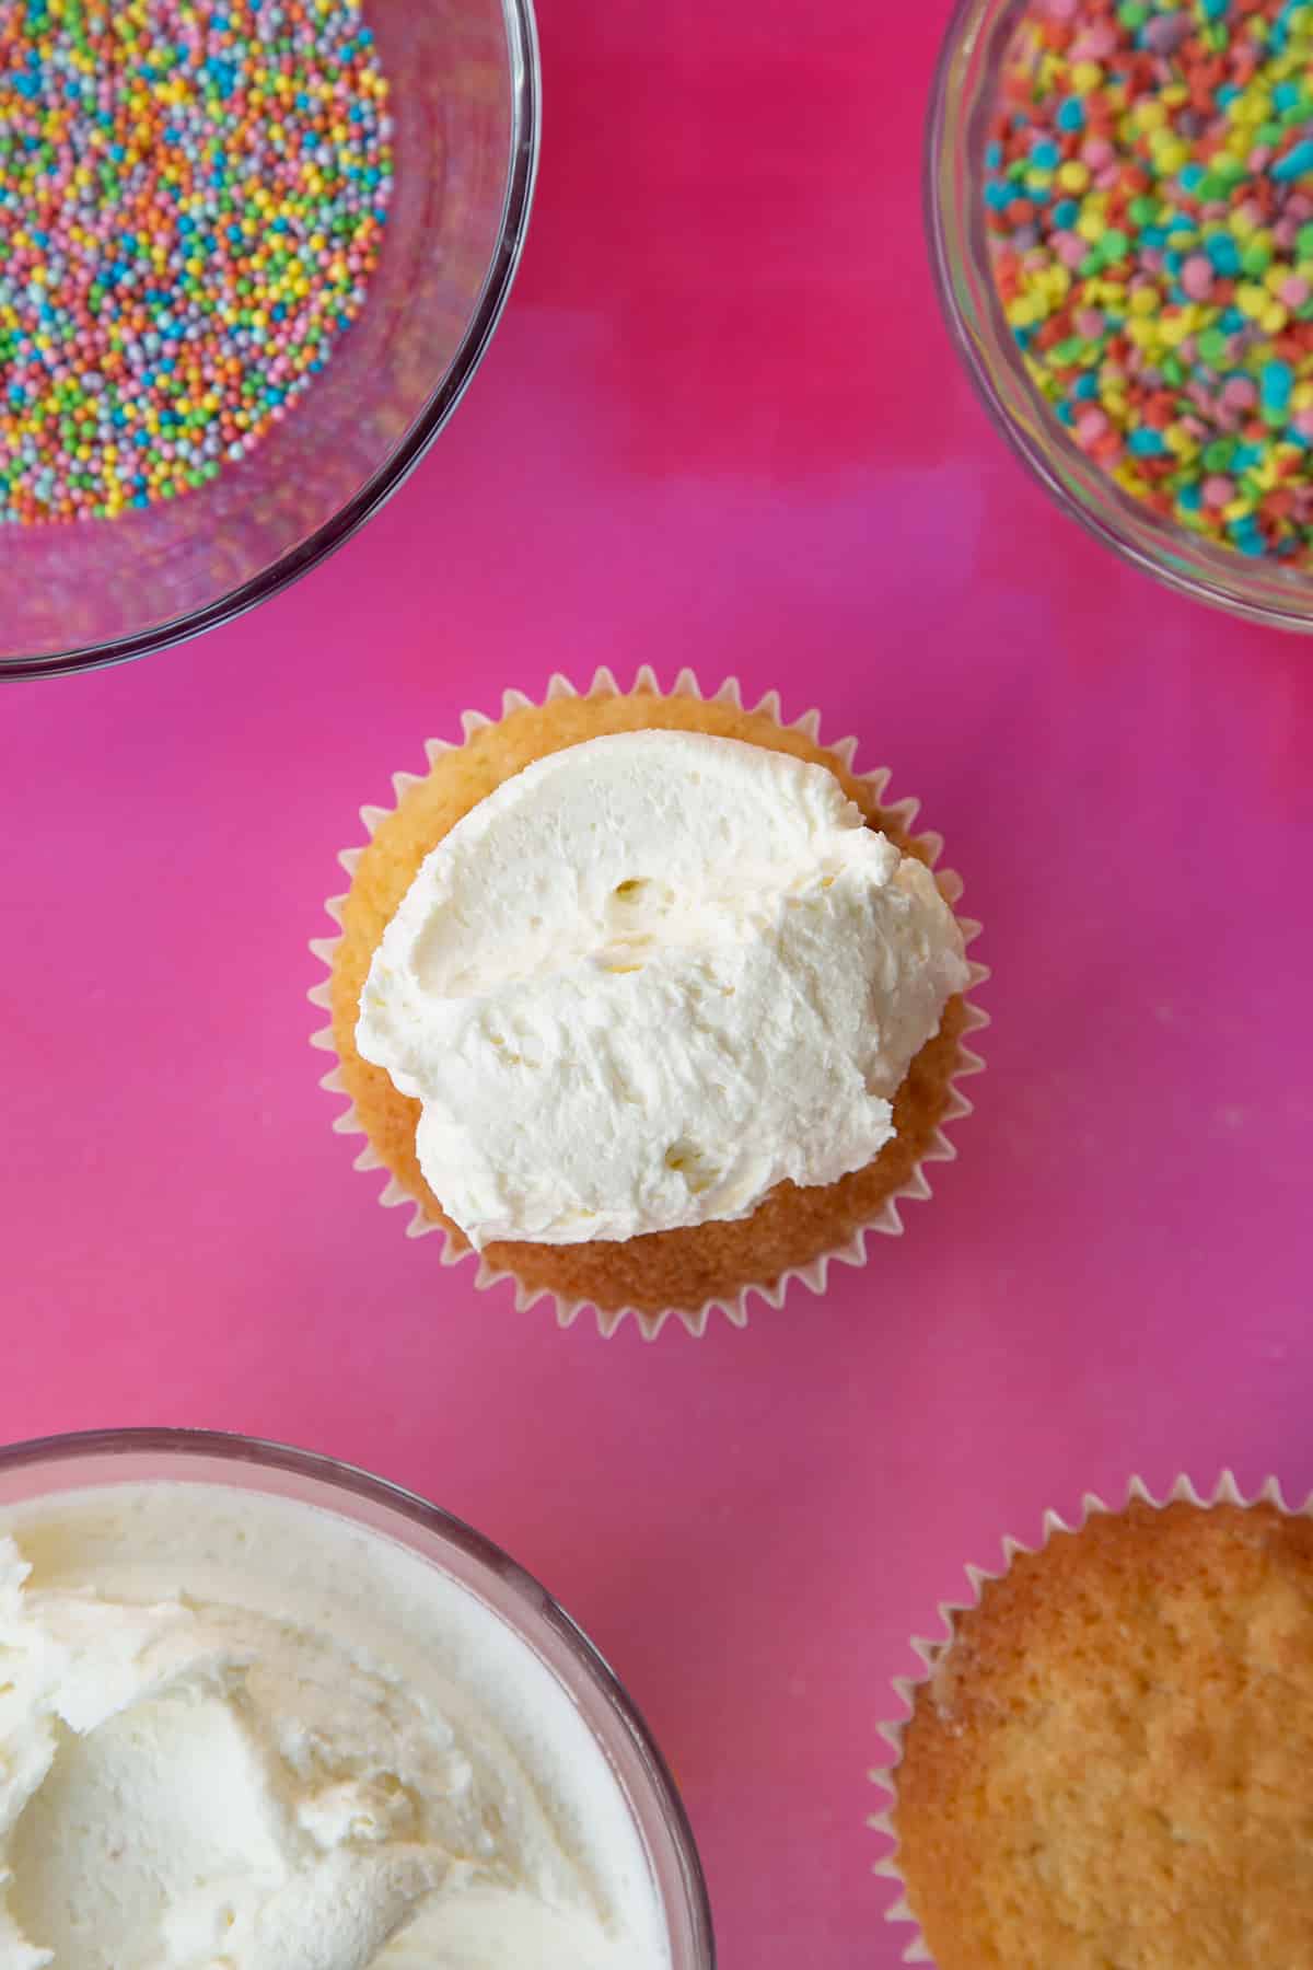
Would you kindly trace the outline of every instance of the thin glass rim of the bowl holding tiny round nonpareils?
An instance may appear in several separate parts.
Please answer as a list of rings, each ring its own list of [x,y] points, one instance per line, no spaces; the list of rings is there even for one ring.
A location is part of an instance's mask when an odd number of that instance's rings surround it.
[[[492,331],[502,319],[502,309],[520,268],[524,242],[533,207],[533,187],[537,183],[537,164],[541,150],[541,61],[537,43],[537,22],[533,0],[500,0],[506,26],[506,45],[512,79],[512,130],[506,191],[502,197],[502,223],[498,242],[488,262],[488,270],[478,290],[474,311],[469,319],[461,345],[443,376],[441,384],[411,424],[396,451],[374,471],[360,491],[346,500],[333,518],[289,554],[283,554],[270,567],[240,581],[226,595],[217,597],[203,609],[156,623],[148,630],[134,630],[114,636],[104,644],[83,644],[77,650],[53,650],[43,656],[18,656],[0,662],[0,682],[31,678],[59,678],[83,670],[108,670],[112,664],[128,664],[138,656],[152,656],[156,650],[169,650],[175,644],[191,642],[211,628],[234,623],[250,609],[270,601],[291,587],[313,567],[319,567],[331,554],[360,532],[380,506],[409,479],[429,445],[443,429],[453,410],[469,390],[478,370]]]

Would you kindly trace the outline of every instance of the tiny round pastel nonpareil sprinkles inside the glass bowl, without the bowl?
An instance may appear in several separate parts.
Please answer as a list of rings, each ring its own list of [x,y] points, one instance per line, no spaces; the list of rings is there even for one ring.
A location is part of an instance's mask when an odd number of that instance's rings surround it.
[[[392,189],[360,0],[0,0],[0,522],[242,459],[358,313]]]

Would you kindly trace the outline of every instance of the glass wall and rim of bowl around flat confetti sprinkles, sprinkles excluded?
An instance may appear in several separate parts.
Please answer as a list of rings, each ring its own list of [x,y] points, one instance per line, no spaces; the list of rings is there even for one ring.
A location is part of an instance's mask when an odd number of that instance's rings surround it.
[[[1012,449],[1063,512],[1181,595],[1252,623],[1313,630],[1313,579],[1217,548],[1150,512],[1067,437],[1004,319],[984,229],[984,146],[1008,41],[1030,0],[957,0],[925,136],[925,225],[939,299],[967,372]]]

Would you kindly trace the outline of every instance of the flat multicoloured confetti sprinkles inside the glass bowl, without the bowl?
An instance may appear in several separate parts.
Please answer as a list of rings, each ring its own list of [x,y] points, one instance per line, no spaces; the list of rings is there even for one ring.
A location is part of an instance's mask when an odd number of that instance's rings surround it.
[[[998,294],[1081,449],[1313,559],[1313,4],[1035,0],[984,171]]]

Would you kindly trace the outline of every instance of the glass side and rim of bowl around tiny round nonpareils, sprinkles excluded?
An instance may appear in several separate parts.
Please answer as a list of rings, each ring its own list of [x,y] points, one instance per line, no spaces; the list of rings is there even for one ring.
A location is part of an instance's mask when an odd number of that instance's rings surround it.
[[[419,463],[478,368],[539,140],[531,0],[368,0],[396,187],[358,321],[250,457],[116,520],[0,526],[0,676],[89,670],[228,623],[307,573]]]

